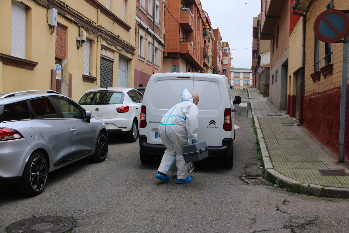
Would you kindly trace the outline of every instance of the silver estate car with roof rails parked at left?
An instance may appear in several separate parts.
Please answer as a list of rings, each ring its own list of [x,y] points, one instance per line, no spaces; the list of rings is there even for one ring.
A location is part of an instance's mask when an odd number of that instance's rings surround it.
[[[105,123],[72,99],[52,90],[0,95],[0,185],[38,195],[49,172],[107,152]]]

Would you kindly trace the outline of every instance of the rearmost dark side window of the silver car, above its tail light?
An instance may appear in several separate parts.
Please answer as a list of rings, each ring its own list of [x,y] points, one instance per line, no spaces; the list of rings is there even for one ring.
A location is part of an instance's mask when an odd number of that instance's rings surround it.
[[[2,121],[16,121],[30,118],[27,101],[20,101],[5,105]]]

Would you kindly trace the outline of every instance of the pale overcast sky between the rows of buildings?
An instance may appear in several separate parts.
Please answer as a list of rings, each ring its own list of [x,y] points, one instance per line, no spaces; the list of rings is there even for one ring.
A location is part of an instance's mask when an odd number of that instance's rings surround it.
[[[261,0],[201,0],[201,4],[212,28],[219,28],[223,42],[229,43],[231,65],[251,69],[253,17],[260,13]]]

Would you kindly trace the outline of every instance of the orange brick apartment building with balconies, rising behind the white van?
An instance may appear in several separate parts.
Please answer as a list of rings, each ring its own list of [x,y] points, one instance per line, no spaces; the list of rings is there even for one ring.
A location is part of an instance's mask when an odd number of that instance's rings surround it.
[[[166,1],[164,11],[164,72],[200,72],[208,60],[204,11],[199,0]],[[205,51],[207,53],[207,51]]]

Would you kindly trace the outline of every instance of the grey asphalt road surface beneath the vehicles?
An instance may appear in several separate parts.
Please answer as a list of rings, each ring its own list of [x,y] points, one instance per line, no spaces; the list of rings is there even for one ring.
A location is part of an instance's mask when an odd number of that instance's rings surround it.
[[[246,90],[232,89],[232,95],[247,101]],[[161,182],[154,177],[159,159],[142,165],[138,141],[112,137],[106,161],[82,160],[50,173],[39,196],[21,197],[1,187],[0,232],[39,216],[74,219],[72,233],[348,232],[348,199],[295,194],[240,178],[261,174],[248,106],[235,106],[240,128],[232,169],[206,160],[195,163],[192,183],[175,184],[175,176]]]

